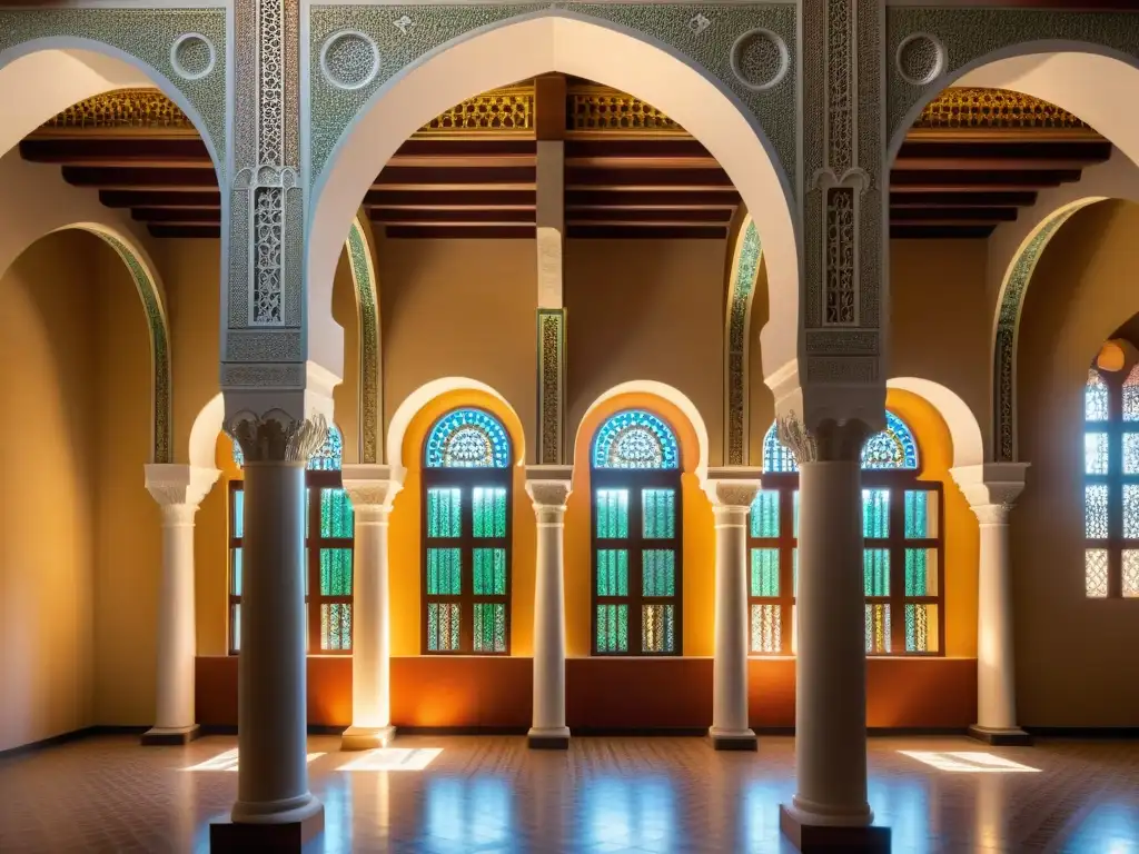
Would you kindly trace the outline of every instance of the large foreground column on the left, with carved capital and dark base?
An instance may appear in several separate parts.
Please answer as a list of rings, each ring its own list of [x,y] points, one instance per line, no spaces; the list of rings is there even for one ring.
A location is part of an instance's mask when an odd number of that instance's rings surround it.
[[[327,421],[271,410],[227,430],[245,455],[237,803],[211,847],[300,851],[323,824],[306,764],[304,468]]]

